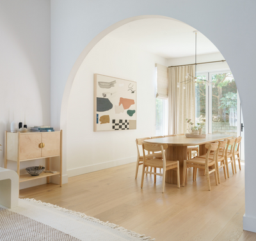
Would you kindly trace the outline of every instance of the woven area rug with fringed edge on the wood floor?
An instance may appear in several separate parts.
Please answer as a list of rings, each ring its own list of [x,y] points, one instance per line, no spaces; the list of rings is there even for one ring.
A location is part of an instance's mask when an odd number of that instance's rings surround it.
[[[19,199],[19,206],[0,205],[1,241],[123,241],[154,239],[102,222],[79,212],[35,199]]]

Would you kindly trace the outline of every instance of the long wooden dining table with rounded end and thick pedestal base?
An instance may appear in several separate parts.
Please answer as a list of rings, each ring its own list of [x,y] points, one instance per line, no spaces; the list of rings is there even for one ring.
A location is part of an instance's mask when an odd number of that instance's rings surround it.
[[[205,138],[189,138],[186,136],[170,136],[156,139],[147,139],[145,143],[152,144],[168,144],[166,150],[166,160],[179,160],[180,166],[180,183],[182,183],[183,176],[183,162],[187,159],[188,146],[199,145],[199,155],[204,155],[206,143],[214,143],[218,140],[230,138],[230,135],[221,134],[207,134]],[[166,171],[165,182],[177,184],[177,173],[173,170]],[[187,180],[186,180],[187,182]]]

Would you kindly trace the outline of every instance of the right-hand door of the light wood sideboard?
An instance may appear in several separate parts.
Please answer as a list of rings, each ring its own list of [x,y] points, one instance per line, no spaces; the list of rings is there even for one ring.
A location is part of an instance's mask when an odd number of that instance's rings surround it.
[[[42,157],[51,157],[52,155],[60,155],[60,133],[42,133]]]

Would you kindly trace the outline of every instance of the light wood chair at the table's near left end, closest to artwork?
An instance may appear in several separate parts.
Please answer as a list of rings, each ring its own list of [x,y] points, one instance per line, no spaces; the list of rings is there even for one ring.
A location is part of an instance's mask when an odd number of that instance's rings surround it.
[[[154,175],[154,183],[156,183],[156,175],[163,176],[162,180],[162,192],[164,192],[164,185],[165,185],[165,175],[166,171],[170,169],[176,169],[177,171],[177,187],[180,187],[180,170],[179,170],[179,160],[166,160],[164,150],[168,148],[168,144],[149,144],[143,143],[143,167],[142,167],[142,176],[141,176],[141,189],[143,188],[143,182],[145,174],[149,173]],[[145,150],[148,152],[160,152],[163,155],[163,159],[147,159],[147,155],[145,154]],[[152,171],[145,171],[146,167],[154,167],[154,172]],[[157,168],[163,169],[163,173],[157,173]]]

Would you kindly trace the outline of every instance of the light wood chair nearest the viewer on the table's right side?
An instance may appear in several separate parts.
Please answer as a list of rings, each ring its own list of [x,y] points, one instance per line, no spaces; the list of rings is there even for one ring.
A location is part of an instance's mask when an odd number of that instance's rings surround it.
[[[205,155],[205,159],[202,159],[199,157],[194,157],[191,160],[184,160],[184,162],[183,162],[183,180],[182,180],[183,186],[185,185],[188,167],[205,169],[209,190],[211,190],[211,183],[210,183],[210,176],[209,176],[211,173],[214,173],[215,183],[216,183],[216,185],[218,185],[218,176],[217,176],[217,171],[216,171],[216,150],[218,149],[218,142],[207,143],[207,144],[205,144],[205,148],[208,149],[208,151]],[[212,159],[209,159],[209,155],[210,155],[211,151],[213,151],[214,153],[213,153]],[[210,166],[212,167],[211,171],[209,171]],[[193,176],[193,179],[194,179],[194,176]]]

